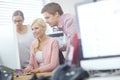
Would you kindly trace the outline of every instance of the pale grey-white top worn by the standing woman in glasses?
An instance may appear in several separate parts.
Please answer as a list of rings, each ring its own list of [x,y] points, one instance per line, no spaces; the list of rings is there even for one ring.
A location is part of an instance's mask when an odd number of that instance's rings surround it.
[[[19,44],[19,56],[20,56],[20,64],[22,68],[27,67],[30,58],[30,45],[34,40],[34,36],[32,34],[32,30],[30,26],[27,26],[26,34],[17,33],[18,44]]]

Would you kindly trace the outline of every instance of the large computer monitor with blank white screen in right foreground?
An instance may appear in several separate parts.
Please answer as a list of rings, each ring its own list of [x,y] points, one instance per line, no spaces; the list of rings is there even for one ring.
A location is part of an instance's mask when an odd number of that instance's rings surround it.
[[[120,69],[120,0],[77,4],[81,39],[81,67],[86,70]]]

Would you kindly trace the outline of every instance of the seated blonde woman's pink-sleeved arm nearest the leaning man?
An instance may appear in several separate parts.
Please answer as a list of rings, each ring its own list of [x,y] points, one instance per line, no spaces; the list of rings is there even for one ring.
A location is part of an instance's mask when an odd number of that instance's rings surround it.
[[[40,72],[53,71],[59,65],[59,44],[56,39],[51,44],[51,52],[50,63],[40,67]]]

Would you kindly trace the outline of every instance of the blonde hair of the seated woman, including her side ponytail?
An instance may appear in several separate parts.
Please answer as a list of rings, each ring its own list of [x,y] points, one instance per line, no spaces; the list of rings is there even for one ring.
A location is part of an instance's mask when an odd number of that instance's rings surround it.
[[[42,27],[46,31],[46,23],[45,23],[45,21],[42,18],[35,19],[33,21],[33,23],[31,24],[31,27],[34,24],[38,24],[40,27]],[[40,47],[40,40],[39,39],[35,39],[35,41],[34,41],[35,52],[37,52],[39,50],[39,47]]]

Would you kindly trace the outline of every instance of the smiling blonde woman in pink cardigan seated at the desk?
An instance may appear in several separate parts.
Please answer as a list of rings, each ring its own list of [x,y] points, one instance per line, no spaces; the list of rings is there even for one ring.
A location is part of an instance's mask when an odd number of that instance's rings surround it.
[[[35,19],[31,28],[36,39],[31,45],[29,65],[24,72],[51,72],[59,65],[58,41],[45,34],[46,23],[41,18]]]

